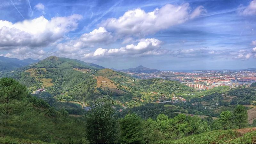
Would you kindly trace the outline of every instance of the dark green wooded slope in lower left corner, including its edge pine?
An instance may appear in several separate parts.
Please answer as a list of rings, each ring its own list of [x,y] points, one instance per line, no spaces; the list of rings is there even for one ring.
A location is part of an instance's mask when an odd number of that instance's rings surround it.
[[[56,111],[43,99],[30,96],[26,87],[11,78],[0,79],[1,143],[84,143],[85,121]],[[7,110],[6,110],[7,108]],[[68,131],[66,131],[68,130]],[[10,138],[10,139],[9,139]]]

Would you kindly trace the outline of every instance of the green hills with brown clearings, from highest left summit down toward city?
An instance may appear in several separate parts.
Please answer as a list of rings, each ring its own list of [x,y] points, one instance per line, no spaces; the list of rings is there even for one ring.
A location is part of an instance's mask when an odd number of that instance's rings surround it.
[[[172,94],[193,91],[179,82],[162,79],[140,80],[96,64],[58,57],[48,57],[38,63],[2,74],[1,77],[18,80],[30,92],[45,88],[46,92],[59,100],[88,103],[104,95],[112,95],[119,105],[141,105],[160,98],[168,99]]]

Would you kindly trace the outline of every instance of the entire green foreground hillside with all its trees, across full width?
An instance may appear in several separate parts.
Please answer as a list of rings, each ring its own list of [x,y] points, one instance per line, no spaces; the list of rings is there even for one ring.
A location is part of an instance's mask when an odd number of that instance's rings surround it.
[[[165,104],[132,108],[128,113],[117,114],[120,117],[118,118],[113,108],[114,101],[107,96],[101,101],[95,101],[92,109],[82,117],[69,116],[68,111],[57,110],[45,101],[28,94],[26,86],[14,79],[1,78],[0,142],[255,142],[256,129],[243,129],[253,126],[248,124],[247,110],[243,105],[236,105],[233,110],[221,112],[218,119],[178,113],[173,115],[173,111],[166,109]]]

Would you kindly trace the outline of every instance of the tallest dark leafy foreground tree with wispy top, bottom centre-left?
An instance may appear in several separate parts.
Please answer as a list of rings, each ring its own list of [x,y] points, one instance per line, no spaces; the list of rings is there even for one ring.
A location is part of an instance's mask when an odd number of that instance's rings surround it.
[[[94,102],[94,106],[85,115],[87,139],[90,143],[116,143],[118,123],[112,100],[103,98],[104,103]]]

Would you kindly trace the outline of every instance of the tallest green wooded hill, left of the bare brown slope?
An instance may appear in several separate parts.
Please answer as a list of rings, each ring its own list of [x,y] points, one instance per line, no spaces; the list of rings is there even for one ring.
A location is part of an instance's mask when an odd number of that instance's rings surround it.
[[[19,68],[2,77],[13,77],[20,83],[36,91],[45,88],[52,95],[61,93],[76,100],[92,99],[96,80],[92,73],[101,66],[88,64],[80,60],[48,57],[36,64]]]

